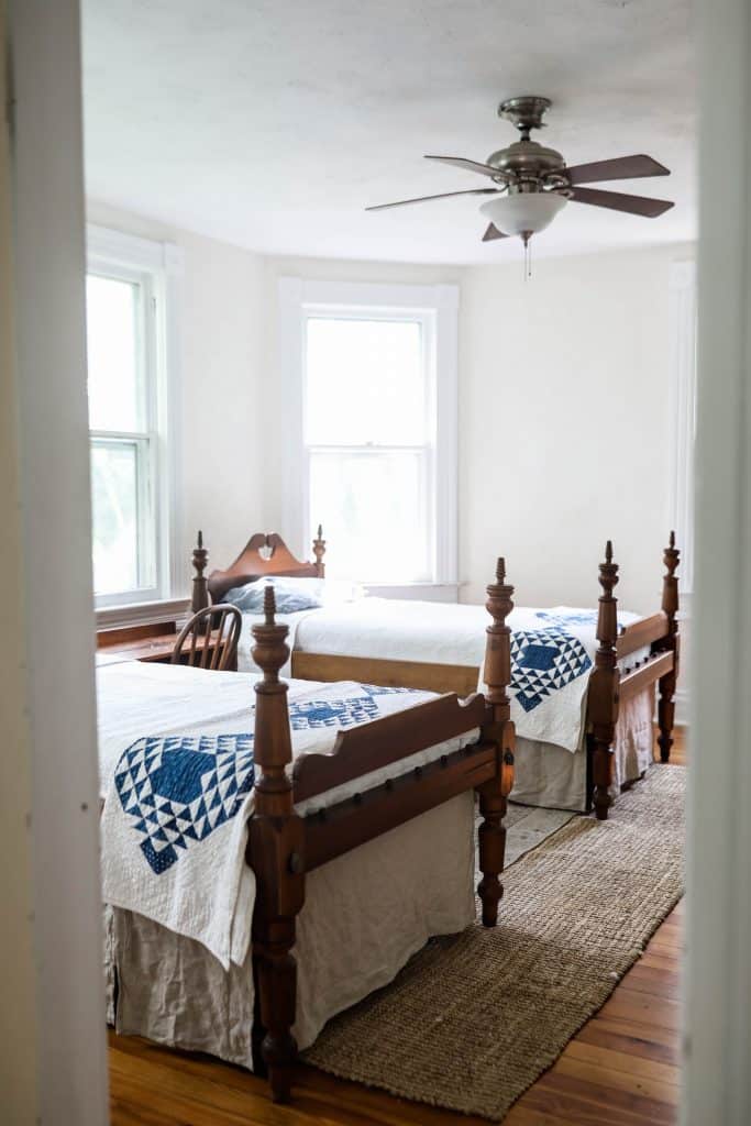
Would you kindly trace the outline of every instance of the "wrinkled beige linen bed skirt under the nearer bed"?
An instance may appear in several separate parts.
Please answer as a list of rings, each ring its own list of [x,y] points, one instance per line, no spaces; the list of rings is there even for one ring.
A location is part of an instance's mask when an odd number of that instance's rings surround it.
[[[474,860],[470,790],[307,876],[294,949],[301,1049],[429,938],[472,922]],[[252,1070],[250,953],[225,972],[199,942],[118,909],[106,911],[105,947],[108,1020],[118,1033]]]

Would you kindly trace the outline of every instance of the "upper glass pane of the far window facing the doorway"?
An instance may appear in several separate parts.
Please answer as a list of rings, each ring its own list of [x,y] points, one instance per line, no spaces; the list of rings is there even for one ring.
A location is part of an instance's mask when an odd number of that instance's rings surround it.
[[[427,388],[419,321],[307,320],[312,446],[420,445]]]

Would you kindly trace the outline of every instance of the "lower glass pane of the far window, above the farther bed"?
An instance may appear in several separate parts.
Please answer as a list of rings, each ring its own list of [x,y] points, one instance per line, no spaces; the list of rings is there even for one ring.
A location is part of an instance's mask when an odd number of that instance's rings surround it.
[[[311,522],[337,545],[327,574],[418,582],[429,574],[422,452],[311,454]]]

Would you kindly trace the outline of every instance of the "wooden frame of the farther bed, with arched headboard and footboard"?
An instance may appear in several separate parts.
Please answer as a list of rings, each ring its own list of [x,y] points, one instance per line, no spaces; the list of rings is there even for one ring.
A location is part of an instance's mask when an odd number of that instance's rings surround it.
[[[213,571],[206,579],[204,570],[207,555],[203,542],[194,552],[194,610],[220,602],[233,587],[263,575],[297,575],[323,578],[325,540],[321,527],[313,540],[314,562],[301,562],[289,552],[276,533],[253,535],[234,563],[225,571]],[[199,554],[198,554],[199,553]],[[614,589],[618,582],[618,564],[613,561],[613,545],[608,540],[605,561],[599,564],[599,598],[597,640],[599,642],[594,667],[590,673],[587,694],[587,808],[593,808],[599,820],[607,819],[611,804],[609,793],[613,772],[611,748],[618,722],[619,706],[652,685],[659,692],[658,725],[660,759],[670,760],[674,725],[674,695],[679,669],[678,635],[678,569],[680,553],[671,531],[664,549],[662,605],[660,610],[622,629],[617,622],[617,598]],[[649,656],[626,663],[638,650],[649,646]],[[303,680],[345,680],[423,688],[431,691],[456,692],[468,696],[476,689],[480,669],[468,665],[431,664],[415,661],[364,659],[322,653],[293,652],[292,674]]]

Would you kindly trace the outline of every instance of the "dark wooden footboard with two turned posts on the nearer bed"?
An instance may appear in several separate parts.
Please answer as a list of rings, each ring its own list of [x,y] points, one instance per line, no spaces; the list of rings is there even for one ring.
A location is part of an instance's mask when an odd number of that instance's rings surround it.
[[[235,572],[236,573],[236,572]],[[295,571],[299,573],[299,571]],[[279,669],[288,656],[287,626],[275,622],[272,588],[265,592],[265,623],[253,626],[253,658],[263,673],[256,686],[254,808],[249,822],[247,860],[256,874],[252,924],[257,1020],[254,1064],[262,1069],[276,1101],[289,1098],[296,1045],[295,918],[305,897],[305,876],[319,866],[397,825],[474,789],[482,823],[477,887],[482,920],[495,926],[502,895],[506,829],[503,816],[513,783],[513,724],[507,688],[513,588],[504,581],[503,561],[488,588],[492,624],[486,636],[486,696],[462,701],[441,696],[358,727],[341,731],[330,754],[296,759],[293,777],[287,686]],[[479,727],[477,742],[409,775],[400,775],[352,798],[301,817],[295,804],[373,770],[388,767],[424,748]]]

